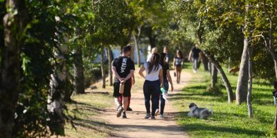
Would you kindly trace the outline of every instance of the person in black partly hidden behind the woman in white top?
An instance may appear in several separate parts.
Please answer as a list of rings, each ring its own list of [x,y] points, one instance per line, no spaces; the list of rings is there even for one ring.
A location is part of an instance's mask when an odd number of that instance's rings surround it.
[[[162,52],[160,55],[161,55],[160,65],[163,68],[163,85],[164,85],[164,88],[165,88],[166,92],[168,92],[168,88],[169,88],[168,81],[169,81],[170,86],[171,86],[171,91],[173,91],[173,83],[172,83],[172,79],[171,79],[170,72],[169,72],[170,71],[169,70],[169,65],[166,62],[166,53]],[[159,99],[161,99],[160,117],[164,118],[163,111],[164,111],[164,108],[166,106],[166,99],[163,99],[163,95],[162,95],[161,92],[160,92],[160,95],[159,95]],[[157,104],[157,110],[155,112],[156,116],[157,116],[157,113],[159,113],[159,99],[158,99],[158,104]]]

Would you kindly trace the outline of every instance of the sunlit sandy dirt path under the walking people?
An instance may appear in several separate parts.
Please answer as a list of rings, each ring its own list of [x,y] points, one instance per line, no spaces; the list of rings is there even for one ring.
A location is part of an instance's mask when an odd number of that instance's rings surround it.
[[[136,70],[137,71],[137,70]],[[143,79],[136,75],[136,84],[132,88],[132,99],[130,107],[132,112],[127,112],[127,119],[116,117],[116,106],[105,110],[103,119],[107,120],[109,124],[116,128],[114,135],[116,137],[188,137],[184,128],[177,126],[175,116],[178,114],[177,110],[173,108],[170,97],[176,95],[188,83],[191,75],[183,72],[181,75],[181,83],[176,83],[176,78],[173,77],[173,72],[170,72],[175,85],[174,92],[170,92],[168,97],[169,102],[166,103],[165,113],[166,119],[156,120],[144,119],[145,105],[143,98]]]

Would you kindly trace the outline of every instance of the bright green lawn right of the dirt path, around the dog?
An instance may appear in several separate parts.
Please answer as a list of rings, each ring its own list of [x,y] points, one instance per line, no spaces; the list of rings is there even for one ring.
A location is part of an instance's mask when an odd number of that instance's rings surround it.
[[[187,72],[192,72],[189,63],[186,63]],[[193,74],[193,73],[192,73]],[[238,75],[226,72],[235,94]],[[220,75],[218,82],[222,84]],[[227,94],[222,86],[223,95],[207,92],[210,83],[208,72],[200,68],[193,74],[190,84],[179,95],[175,96],[175,106],[181,115],[177,118],[178,124],[184,126],[190,137],[275,137],[273,122],[275,106],[271,96],[273,86],[269,83],[253,81],[252,106],[253,118],[248,117],[247,104],[238,106],[227,102]],[[213,107],[214,115],[208,119],[188,117],[188,105],[194,102],[199,107]]]

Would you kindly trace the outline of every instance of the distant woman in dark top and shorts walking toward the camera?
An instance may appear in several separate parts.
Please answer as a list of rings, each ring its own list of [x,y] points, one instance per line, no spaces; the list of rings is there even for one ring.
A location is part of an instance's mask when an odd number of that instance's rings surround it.
[[[175,70],[175,75],[177,77],[177,83],[180,83],[181,69],[184,63],[184,57],[181,50],[177,50],[177,55],[173,60],[173,70]]]

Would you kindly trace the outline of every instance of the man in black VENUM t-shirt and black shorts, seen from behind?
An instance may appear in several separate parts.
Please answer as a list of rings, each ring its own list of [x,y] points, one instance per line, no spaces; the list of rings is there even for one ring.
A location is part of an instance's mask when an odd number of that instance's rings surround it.
[[[132,47],[124,46],[123,55],[114,59],[111,70],[114,73],[114,101],[116,102],[117,115],[120,117],[121,112],[123,112],[122,117],[126,117],[126,110],[128,107],[128,97],[131,97],[131,87],[132,87],[132,75],[134,74],[134,61],[132,61],[129,56],[131,55]],[[123,107],[120,102],[120,83],[124,83],[123,92]]]

